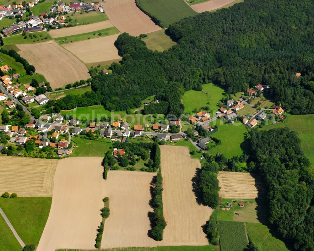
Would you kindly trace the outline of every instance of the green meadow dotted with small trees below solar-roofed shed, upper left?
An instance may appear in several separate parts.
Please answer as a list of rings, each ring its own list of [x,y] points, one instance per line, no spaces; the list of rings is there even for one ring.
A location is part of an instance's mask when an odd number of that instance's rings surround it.
[[[30,34],[32,34],[31,38]],[[52,37],[46,31],[28,32],[26,35],[27,38],[24,38],[24,36],[21,34],[4,37],[3,42],[5,45],[16,45],[16,44],[35,44],[52,40]]]

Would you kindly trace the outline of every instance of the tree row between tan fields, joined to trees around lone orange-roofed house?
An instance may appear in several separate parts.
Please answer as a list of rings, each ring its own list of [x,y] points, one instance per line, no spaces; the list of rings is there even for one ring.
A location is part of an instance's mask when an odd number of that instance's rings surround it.
[[[157,172],[156,177],[153,179],[153,185],[151,189],[151,203],[150,205],[153,208],[153,213],[150,217],[151,221],[151,229],[149,230],[149,237],[154,240],[161,241],[163,231],[167,225],[164,212],[163,212],[163,202],[162,202],[162,176],[160,171],[160,147],[158,145],[158,139],[153,142],[140,142],[140,143],[127,143],[127,142],[114,142],[113,147],[117,149],[125,150],[125,154],[120,155],[118,153],[117,160],[119,161],[119,165],[127,166],[131,163],[132,159],[134,159],[134,155],[142,156],[144,160],[149,158],[149,152],[151,159],[149,159],[148,163],[149,167],[144,168],[146,172]],[[102,166],[104,166],[103,178],[106,180],[108,177],[108,169],[117,170],[116,168],[116,158],[112,155],[112,151],[109,150],[106,153],[106,156],[103,158]],[[135,159],[134,159],[135,162]],[[125,164],[124,164],[125,163]],[[135,169],[134,169],[135,170]]]

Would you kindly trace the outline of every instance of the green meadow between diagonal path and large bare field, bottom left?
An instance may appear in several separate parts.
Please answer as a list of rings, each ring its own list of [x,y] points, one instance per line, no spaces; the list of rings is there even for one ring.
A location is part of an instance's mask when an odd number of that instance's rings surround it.
[[[51,198],[0,198],[0,206],[23,242],[37,245],[49,215]]]

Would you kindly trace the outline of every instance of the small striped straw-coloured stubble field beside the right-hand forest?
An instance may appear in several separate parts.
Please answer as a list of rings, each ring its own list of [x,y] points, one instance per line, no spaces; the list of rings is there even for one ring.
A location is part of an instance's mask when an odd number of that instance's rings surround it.
[[[219,172],[220,196],[231,199],[255,199],[257,188],[255,180],[247,172]]]

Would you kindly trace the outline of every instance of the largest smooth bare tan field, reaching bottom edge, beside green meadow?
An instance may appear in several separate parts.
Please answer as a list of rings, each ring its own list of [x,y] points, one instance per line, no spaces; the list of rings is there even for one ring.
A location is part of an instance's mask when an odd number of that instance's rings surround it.
[[[94,249],[104,206],[101,161],[78,157],[58,162],[50,214],[37,251]]]

